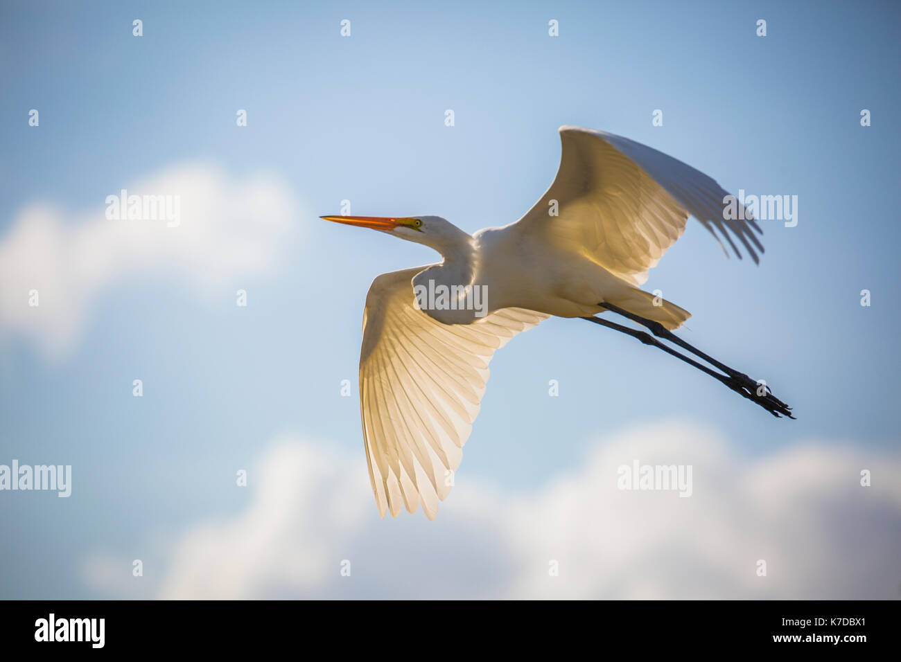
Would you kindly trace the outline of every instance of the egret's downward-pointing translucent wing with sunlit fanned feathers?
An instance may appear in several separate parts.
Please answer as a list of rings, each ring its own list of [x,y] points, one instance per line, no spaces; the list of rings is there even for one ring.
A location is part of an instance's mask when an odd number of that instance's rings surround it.
[[[416,308],[413,277],[423,267],[383,274],[369,287],[359,356],[359,402],[369,479],[382,517],[401,500],[434,519],[460,466],[488,361],[520,331],[548,315],[505,308],[473,324],[442,324]]]

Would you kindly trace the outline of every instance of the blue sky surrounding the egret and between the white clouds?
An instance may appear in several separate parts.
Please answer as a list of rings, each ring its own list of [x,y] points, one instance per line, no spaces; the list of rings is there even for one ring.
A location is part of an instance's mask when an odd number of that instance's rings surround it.
[[[148,540],[165,547],[242,512],[236,467],[279,436],[346,453],[368,489],[363,301],[373,277],[435,256],[317,217],[349,199],[353,213],[435,213],[466,231],[512,222],[551,183],[562,124],[648,144],[731,192],[798,196],[796,227],[762,223],[760,267],[725,258],[689,221],[646,287],[693,313],[687,340],[766,378],[798,420],[633,340],[551,320],[496,355],[461,476],[528,496],[583,466],[603,435],[674,420],[719,431],[741,462],[805,440],[896,453],[892,3],[37,2],[0,16],[0,247],[25,210],[49,206],[73,230],[103,219],[106,195],[179,164],[222,173],[225,189],[269,177],[291,201],[259,268],[196,286],[168,254],[126,265],[83,293],[59,352],[0,326],[0,463],[74,473],[68,500],[0,494],[4,597],[105,595],[79,570],[86,558],[149,556]],[[389,548],[428,525],[414,519],[373,536]]]

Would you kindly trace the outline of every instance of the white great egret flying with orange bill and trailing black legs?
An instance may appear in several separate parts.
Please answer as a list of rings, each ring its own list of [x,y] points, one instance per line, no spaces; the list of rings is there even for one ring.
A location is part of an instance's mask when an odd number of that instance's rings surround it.
[[[451,491],[488,378],[488,361],[517,333],[551,315],[627,333],[714,376],[772,413],[790,407],[749,376],[670,331],[689,313],[639,286],[694,216],[735,254],[763,252],[750,214],[724,213],[726,192],[705,174],[605,131],[560,128],[560,169],[519,221],[474,235],[440,216],[322,216],[390,233],[442,261],[377,277],[363,311],[359,399],[369,479],[385,517],[420,501],[429,519]],[[730,236],[730,233],[733,235]],[[721,246],[722,246],[721,242]],[[724,249],[725,250],[725,249]],[[726,251],[728,254],[728,251]],[[476,302],[485,294],[484,302]],[[475,295],[475,296],[474,296]],[[613,312],[676,343],[596,317]],[[722,372],[717,372],[717,370]]]

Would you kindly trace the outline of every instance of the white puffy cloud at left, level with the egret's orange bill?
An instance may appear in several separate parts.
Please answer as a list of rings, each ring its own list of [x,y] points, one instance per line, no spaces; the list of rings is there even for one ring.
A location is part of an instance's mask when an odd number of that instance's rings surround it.
[[[287,186],[273,177],[230,178],[182,165],[124,188],[179,196],[180,222],[108,220],[105,199],[81,213],[24,209],[0,238],[0,338],[26,336],[59,356],[77,341],[91,301],[106,287],[171,278],[203,290],[262,274],[299,225]],[[32,290],[37,307],[29,305]]]

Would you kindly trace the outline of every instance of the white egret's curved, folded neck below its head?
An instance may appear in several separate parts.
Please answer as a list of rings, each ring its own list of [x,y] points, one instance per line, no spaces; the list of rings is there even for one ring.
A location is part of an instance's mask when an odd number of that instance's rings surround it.
[[[475,283],[478,249],[464,231],[442,238],[441,264],[424,269],[413,279],[420,308],[444,324],[471,324],[487,314],[487,288]]]

